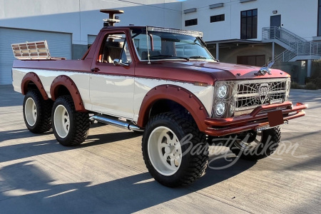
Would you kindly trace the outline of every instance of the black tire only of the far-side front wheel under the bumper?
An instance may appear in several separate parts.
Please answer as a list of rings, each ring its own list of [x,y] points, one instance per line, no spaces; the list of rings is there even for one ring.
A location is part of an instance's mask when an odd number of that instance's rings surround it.
[[[258,146],[252,151],[245,151],[240,149],[239,146],[233,146],[230,148],[230,151],[235,153],[236,156],[248,161],[257,161],[267,156],[272,155],[277,149],[281,142],[281,128],[277,126],[275,128],[269,128],[262,131],[262,137]]]

